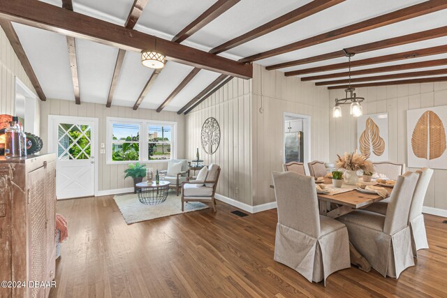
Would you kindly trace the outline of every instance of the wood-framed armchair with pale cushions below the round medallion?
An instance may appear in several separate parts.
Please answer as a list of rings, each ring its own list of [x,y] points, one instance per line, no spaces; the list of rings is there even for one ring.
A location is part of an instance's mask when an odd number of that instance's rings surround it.
[[[210,202],[212,210],[216,212],[217,182],[221,168],[219,165],[211,164],[207,169],[200,170],[196,180],[182,182],[182,211],[185,202]]]

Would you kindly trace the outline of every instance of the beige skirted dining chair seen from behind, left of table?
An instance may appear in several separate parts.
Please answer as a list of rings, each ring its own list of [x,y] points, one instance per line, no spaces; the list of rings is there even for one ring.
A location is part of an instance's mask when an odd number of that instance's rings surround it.
[[[273,172],[278,223],[274,260],[298,271],[312,283],[349,268],[346,226],[318,213],[313,177]]]

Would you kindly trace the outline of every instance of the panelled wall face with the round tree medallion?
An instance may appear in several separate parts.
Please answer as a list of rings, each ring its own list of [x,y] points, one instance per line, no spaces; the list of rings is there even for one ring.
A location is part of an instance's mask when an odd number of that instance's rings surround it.
[[[219,122],[221,140],[216,153],[206,154],[200,144],[203,122]],[[186,114],[186,158],[221,166],[217,193],[252,205],[251,200],[251,80],[233,78],[219,91]]]

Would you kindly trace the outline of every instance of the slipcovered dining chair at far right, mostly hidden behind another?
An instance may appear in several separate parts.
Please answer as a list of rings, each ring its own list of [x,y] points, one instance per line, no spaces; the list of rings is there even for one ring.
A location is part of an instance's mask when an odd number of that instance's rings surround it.
[[[427,233],[425,232],[424,216],[422,208],[425,200],[425,194],[432,179],[433,170],[423,167],[417,170],[419,179],[414,190],[413,199],[411,200],[411,207],[409,213],[409,225],[411,228],[411,246],[413,248],[413,256],[417,258],[417,251],[423,248],[428,248]],[[386,214],[388,209],[388,202],[375,202],[365,208],[368,211],[373,211],[379,214]]]

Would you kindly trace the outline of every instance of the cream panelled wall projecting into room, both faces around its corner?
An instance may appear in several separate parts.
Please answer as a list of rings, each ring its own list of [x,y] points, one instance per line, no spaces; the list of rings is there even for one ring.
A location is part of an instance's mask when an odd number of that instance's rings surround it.
[[[186,115],[186,157],[193,158],[199,148],[207,165],[221,165],[217,193],[251,206],[274,202],[270,184],[272,171],[281,171],[284,163],[284,112],[311,116],[311,158],[326,160],[328,90],[257,64],[252,80],[231,80]],[[200,145],[208,117],[221,126],[221,143],[212,156]]]

